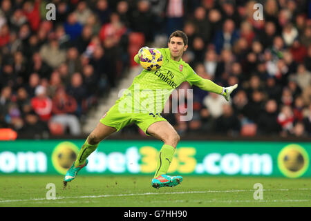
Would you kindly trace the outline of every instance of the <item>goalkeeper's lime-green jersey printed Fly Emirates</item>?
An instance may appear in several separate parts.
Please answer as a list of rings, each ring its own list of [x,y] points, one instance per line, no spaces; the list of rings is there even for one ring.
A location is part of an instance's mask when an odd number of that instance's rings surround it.
[[[184,81],[188,81],[191,86],[194,84],[203,90],[218,94],[223,92],[223,87],[198,76],[189,64],[182,59],[180,61],[171,59],[169,48],[157,49],[163,57],[161,68],[154,71],[142,70],[119,100],[126,106],[127,112],[162,113],[164,104],[173,90]]]

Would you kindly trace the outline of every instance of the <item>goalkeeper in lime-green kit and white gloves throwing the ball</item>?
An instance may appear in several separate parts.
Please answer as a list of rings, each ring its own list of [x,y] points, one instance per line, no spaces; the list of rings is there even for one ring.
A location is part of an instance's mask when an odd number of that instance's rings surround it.
[[[224,88],[198,76],[189,64],[181,59],[182,53],[187,50],[187,44],[187,35],[177,30],[169,37],[168,48],[158,48],[163,59],[161,68],[156,71],[142,70],[142,73],[133,79],[133,83],[124,95],[100,119],[94,131],[86,138],[77,160],[68,169],[64,177],[65,186],[67,182],[75,179],[79,170],[88,164],[86,158],[95,151],[102,140],[132,122],[137,124],[147,135],[164,142],[158,155],[156,173],[151,180],[151,185],[158,189],[162,186],[176,186],[182,182],[181,176],[166,174],[180,140],[180,136],[173,126],[160,115],[169,95],[182,82],[188,81],[191,86],[194,84],[202,90],[223,95],[229,101],[230,94],[238,86],[236,84]],[[140,52],[142,50],[134,57],[138,64],[140,63]],[[158,99],[155,102],[154,98],[149,95],[153,95],[158,90],[162,93],[160,96],[162,99],[160,102]],[[147,98],[140,102],[142,97]],[[124,108],[124,106],[126,107]]]

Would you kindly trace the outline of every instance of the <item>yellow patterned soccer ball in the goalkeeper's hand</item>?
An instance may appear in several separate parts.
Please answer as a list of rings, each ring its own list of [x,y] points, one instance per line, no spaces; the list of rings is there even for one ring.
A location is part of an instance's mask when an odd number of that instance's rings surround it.
[[[141,48],[140,65],[146,70],[158,70],[163,63],[163,57],[159,50],[156,48]]]

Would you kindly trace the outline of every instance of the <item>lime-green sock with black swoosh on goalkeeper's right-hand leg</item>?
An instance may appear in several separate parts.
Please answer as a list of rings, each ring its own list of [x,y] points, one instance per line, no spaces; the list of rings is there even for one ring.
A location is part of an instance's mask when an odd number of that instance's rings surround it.
[[[169,165],[171,164],[171,160],[173,160],[174,153],[175,148],[173,148],[173,146],[169,146],[167,144],[164,144],[162,146],[159,153],[158,164],[154,178],[167,173],[167,171],[169,170]]]

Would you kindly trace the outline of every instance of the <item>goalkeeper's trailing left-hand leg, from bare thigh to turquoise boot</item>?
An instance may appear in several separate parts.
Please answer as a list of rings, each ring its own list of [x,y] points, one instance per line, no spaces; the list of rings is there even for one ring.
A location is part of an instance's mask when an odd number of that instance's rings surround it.
[[[66,186],[67,182],[75,179],[77,173],[88,164],[86,158],[96,150],[98,144],[115,131],[117,131],[116,128],[112,126],[106,126],[101,122],[97,124],[96,128],[86,138],[86,141],[77,155],[77,160],[75,160],[70,169],[68,169],[64,177],[64,186]]]

